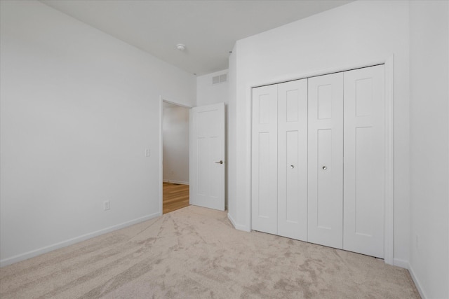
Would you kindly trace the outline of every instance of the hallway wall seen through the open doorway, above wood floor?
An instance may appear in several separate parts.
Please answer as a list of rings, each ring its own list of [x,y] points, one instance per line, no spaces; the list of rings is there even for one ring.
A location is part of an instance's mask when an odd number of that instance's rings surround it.
[[[163,181],[189,184],[189,109],[165,105],[162,118]]]

